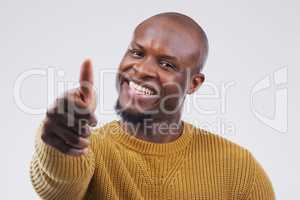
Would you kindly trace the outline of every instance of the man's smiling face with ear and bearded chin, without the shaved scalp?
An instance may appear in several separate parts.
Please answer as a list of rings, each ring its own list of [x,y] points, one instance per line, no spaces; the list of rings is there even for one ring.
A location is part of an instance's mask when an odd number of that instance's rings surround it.
[[[132,115],[180,113],[186,94],[203,82],[203,46],[196,28],[154,16],[133,34],[117,76],[118,106]]]

